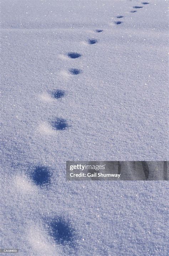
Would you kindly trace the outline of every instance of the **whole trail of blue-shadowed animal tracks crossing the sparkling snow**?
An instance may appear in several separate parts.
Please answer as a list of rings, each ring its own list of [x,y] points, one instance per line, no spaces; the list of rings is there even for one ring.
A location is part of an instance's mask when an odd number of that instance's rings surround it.
[[[149,3],[142,2],[142,5],[147,5],[147,4]],[[133,6],[133,9],[141,9],[141,8],[143,8],[143,6]],[[130,11],[130,13],[135,13],[135,12],[137,12],[137,10]],[[124,16],[118,15],[116,18],[122,19],[124,18]],[[117,20],[117,21],[114,21],[114,23],[116,25],[119,25],[119,24],[122,24],[122,21]],[[103,30],[96,29],[95,32],[101,33],[103,32]],[[87,43],[89,45],[93,45],[98,43],[98,40],[88,39]],[[68,52],[67,56],[68,58],[71,58],[71,59],[77,59],[77,58],[80,58],[82,55],[77,52]],[[69,69],[69,73],[71,75],[78,75],[82,73],[82,70],[77,68],[71,68]],[[61,99],[65,97],[65,95],[66,95],[65,91],[61,89],[53,90],[51,92],[51,97],[55,99]],[[57,117],[54,121],[51,122],[51,127],[53,130],[63,131],[70,126],[68,125],[67,120]],[[34,170],[30,173],[30,178],[41,189],[47,188],[51,184],[52,171],[47,166],[36,166],[34,167]],[[65,245],[65,244],[68,244],[69,246],[75,245],[76,233],[69,221],[67,221],[63,217],[56,216],[55,218],[52,218],[52,219],[49,218],[44,220],[44,223],[45,223],[44,225],[45,225],[46,231],[48,235],[52,237],[53,241],[60,243],[62,245]]]

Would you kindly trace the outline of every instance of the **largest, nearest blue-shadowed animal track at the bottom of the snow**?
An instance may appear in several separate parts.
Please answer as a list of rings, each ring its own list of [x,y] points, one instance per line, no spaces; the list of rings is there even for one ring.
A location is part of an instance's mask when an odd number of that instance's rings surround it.
[[[75,238],[75,231],[69,222],[62,218],[56,218],[47,221],[47,229],[49,235],[58,243],[62,245],[73,245]]]

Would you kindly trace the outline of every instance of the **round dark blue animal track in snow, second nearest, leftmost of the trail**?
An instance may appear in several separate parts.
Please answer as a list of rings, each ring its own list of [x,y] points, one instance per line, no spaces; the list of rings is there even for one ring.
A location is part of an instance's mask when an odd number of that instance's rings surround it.
[[[50,169],[46,166],[37,166],[31,173],[31,178],[38,186],[48,185],[51,180]]]

